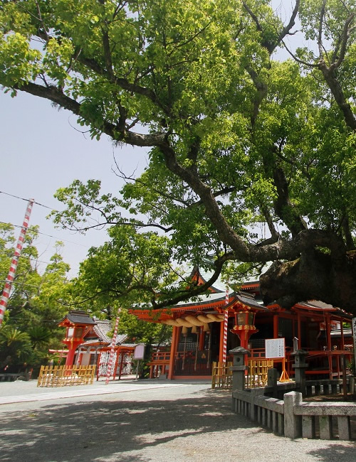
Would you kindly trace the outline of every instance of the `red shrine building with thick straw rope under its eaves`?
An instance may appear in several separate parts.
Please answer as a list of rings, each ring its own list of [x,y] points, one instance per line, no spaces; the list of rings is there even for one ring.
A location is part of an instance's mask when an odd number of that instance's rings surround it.
[[[194,270],[198,284],[209,274]],[[130,313],[150,323],[172,326],[172,343],[167,351],[152,355],[151,377],[165,374],[169,379],[211,377],[213,362],[223,362],[224,313],[228,311],[227,352],[242,346],[251,358],[265,358],[265,340],[284,338],[286,370],[293,377],[293,339],[298,349],[306,350],[310,378],[340,377],[341,356],[352,356],[350,323],[352,316],[339,308],[319,301],[296,303],[290,309],[277,304],[263,306],[258,281],[248,282],[240,291],[216,281],[209,294],[199,301],[185,301],[161,310],[132,309]],[[227,302],[227,303],[226,303]],[[227,358],[229,360],[229,357]],[[281,369],[282,360],[274,367]]]

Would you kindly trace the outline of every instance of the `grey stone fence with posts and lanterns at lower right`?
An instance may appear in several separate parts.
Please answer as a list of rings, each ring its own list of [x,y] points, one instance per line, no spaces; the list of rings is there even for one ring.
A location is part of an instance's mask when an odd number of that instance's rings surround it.
[[[268,387],[245,389],[245,357],[248,350],[235,348],[232,378],[233,410],[243,414],[275,434],[288,438],[351,440],[356,438],[356,403],[303,402],[303,395],[331,392],[355,392],[354,377],[347,380],[305,380],[303,355],[295,353],[298,382],[277,383],[277,371],[270,370]],[[296,369],[297,372],[297,369]],[[347,387],[347,389],[345,388]]]

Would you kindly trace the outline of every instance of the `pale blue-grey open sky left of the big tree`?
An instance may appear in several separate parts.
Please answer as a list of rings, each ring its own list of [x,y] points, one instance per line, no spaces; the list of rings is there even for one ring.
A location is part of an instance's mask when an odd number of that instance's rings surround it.
[[[70,264],[70,276],[77,274],[88,249],[103,244],[107,234],[105,230],[90,230],[82,235],[54,227],[46,216],[51,209],[63,210],[63,205],[53,194],[77,178],[83,182],[100,179],[103,192],[117,192],[122,180],[112,172],[114,152],[125,173],[142,170],[146,162],[145,149],[114,148],[108,136],[91,140],[81,133],[85,127],[75,121],[73,114],[58,111],[41,98],[22,92],[11,98],[9,93],[0,92],[0,222],[21,225],[29,198],[45,205],[34,204],[30,217],[30,225],[39,225],[43,233],[36,241],[39,269],[46,267],[56,241],[61,240],[61,254]],[[16,238],[19,232],[16,227]]]

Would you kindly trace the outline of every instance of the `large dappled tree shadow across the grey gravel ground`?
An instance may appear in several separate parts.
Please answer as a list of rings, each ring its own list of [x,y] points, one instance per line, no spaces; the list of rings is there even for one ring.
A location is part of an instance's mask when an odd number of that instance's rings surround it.
[[[244,428],[252,426],[247,419]],[[1,415],[1,461],[105,461],[113,454],[125,462],[143,461],[126,454],[172,439],[236,429],[231,397],[207,393],[189,399],[78,402]]]

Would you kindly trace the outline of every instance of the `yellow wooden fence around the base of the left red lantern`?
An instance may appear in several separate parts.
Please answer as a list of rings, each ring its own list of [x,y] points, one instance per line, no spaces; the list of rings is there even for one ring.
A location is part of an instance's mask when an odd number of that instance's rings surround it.
[[[95,365],[41,366],[37,387],[91,385],[94,381],[95,367]]]

